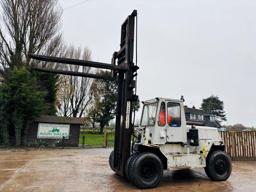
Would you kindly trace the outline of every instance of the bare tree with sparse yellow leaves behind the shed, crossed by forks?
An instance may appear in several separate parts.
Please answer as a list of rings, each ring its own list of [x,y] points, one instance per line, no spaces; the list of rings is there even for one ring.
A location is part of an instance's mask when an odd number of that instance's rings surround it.
[[[91,60],[92,52],[88,46],[82,48],[75,47],[70,44],[67,47],[65,57],[71,59]],[[65,65],[65,70],[77,71],[83,73],[93,73],[92,68],[76,65]],[[92,99],[92,85],[93,80],[87,77],[78,76],[62,76],[60,86],[60,102],[59,114],[63,116],[81,117],[85,108]]]

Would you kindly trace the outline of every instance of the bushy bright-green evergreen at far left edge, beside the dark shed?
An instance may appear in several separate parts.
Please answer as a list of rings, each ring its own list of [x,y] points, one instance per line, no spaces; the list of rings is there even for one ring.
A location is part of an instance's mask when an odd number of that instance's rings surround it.
[[[45,110],[46,92],[38,90],[36,78],[24,68],[14,68],[1,83],[0,133],[4,138],[26,137],[32,119]]]

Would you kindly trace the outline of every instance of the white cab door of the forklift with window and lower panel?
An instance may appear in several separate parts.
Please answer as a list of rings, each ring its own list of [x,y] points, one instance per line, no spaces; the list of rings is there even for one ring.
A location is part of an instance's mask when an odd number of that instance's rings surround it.
[[[180,102],[166,100],[166,139],[167,142],[184,142],[183,127]],[[185,122],[186,123],[186,122]],[[187,139],[187,138],[186,138]],[[186,141],[185,141],[186,142]]]

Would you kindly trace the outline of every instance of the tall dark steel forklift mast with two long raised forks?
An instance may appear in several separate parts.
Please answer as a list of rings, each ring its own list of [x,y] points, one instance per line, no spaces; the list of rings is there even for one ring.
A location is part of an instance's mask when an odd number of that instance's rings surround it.
[[[136,81],[133,80],[133,78],[137,76],[137,69],[139,69],[137,66],[137,58],[136,65],[133,63],[135,17],[137,19],[137,10],[134,10],[132,14],[124,20],[124,23],[121,26],[120,50],[113,53],[111,64],[28,54],[29,58],[36,60],[110,69],[111,77],[74,71],[33,68],[34,70],[41,72],[105,80],[115,80],[118,74],[118,96],[116,108],[116,132],[113,170],[121,176],[125,176],[125,163],[131,152],[131,135],[133,132],[132,103],[138,100],[136,91],[135,95],[133,94],[133,89],[136,87]]]

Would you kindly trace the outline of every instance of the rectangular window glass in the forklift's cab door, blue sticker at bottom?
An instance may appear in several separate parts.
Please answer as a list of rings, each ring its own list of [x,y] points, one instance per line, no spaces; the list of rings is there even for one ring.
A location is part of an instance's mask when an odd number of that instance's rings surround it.
[[[180,118],[180,103],[167,103],[167,123],[171,127],[180,127],[181,126],[181,118]]]

